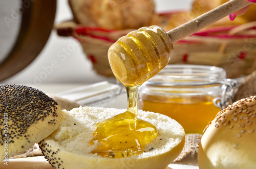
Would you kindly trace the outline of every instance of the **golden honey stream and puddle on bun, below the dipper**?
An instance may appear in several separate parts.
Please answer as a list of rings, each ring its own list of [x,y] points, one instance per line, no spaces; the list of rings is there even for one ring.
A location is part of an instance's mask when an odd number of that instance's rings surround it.
[[[145,144],[157,136],[154,125],[137,118],[139,87],[140,85],[126,86],[127,111],[96,125],[91,144],[94,144],[94,141],[99,144],[92,153],[112,158],[138,155],[145,151]]]

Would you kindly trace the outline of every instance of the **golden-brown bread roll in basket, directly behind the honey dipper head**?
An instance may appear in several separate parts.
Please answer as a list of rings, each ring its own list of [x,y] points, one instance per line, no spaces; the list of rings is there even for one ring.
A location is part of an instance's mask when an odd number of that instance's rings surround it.
[[[159,25],[154,0],[69,0],[76,22],[104,29]]]

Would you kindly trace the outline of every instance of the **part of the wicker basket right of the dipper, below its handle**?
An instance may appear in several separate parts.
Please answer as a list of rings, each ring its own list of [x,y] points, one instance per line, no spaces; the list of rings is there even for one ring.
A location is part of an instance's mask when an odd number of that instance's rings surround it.
[[[228,78],[248,75],[256,68],[256,21],[195,33],[174,44],[170,63],[219,66]]]

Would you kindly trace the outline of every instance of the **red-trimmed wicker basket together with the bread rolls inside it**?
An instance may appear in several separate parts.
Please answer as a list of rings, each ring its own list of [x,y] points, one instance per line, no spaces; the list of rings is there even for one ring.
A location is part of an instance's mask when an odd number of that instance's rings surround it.
[[[81,43],[84,54],[91,60],[93,69],[97,74],[106,77],[113,76],[108,60],[109,47],[120,37],[151,25],[159,25],[165,31],[169,31],[224,3],[224,1],[210,3],[206,1],[205,3],[208,4],[202,5],[200,1],[194,1],[191,11],[156,14],[154,1],[124,3],[122,0],[109,0],[101,5],[96,2],[98,3],[99,0],[95,2],[70,0],[74,21],[62,22],[55,28],[59,36],[76,38]],[[139,3],[144,4],[144,8],[139,6]],[[84,9],[92,7],[97,10],[85,11],[82,7]],[[135,9],[144,14],[133,13]],[[211,27],[175,43],[175,52],[169,64],[218,66],[226,70],[227,78],[237,78],[252,73],[256,68],[254,59],[256,18],[252,17],[255,9],[256,5],[252,4],[244,16],[237,17],[234,21],[225,17]],[[120,14],[122,11],[125,11],[125,15]],[[129,12],[130,15],[127,14]]]

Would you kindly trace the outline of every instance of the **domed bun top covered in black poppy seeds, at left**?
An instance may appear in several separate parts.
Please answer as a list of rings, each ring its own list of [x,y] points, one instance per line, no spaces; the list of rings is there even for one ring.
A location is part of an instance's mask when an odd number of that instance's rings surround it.
[[[0,95],[1,161],[49,136],[63,120],[57,103],[32,87],[1,85]]]

